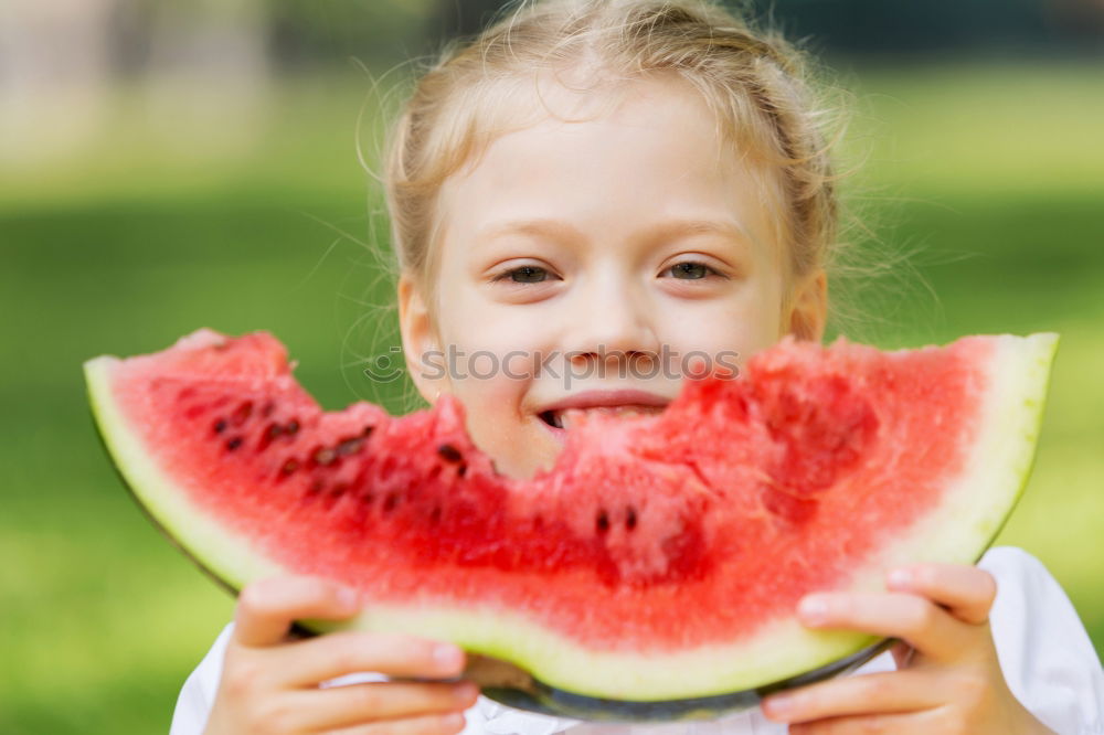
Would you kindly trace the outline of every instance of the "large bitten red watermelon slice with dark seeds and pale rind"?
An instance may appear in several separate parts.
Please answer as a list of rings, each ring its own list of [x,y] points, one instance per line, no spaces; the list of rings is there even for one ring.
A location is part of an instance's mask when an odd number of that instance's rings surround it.
[[[231,589],[333,578],[370,600],[352,627],[454,641],[501,701],[639,720],[752,705],[882,650],[803,628],[797,600],[976,562],[1027,481],[1057,343],[787,338],[661,414],[585,417],[530,480],[495,472],[448,396],[322,412],[263,332],[85,373],[126,483]]]

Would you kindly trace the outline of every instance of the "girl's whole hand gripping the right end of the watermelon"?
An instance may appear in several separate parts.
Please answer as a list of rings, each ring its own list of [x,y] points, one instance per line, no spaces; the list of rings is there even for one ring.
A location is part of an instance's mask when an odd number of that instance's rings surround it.
[[[798,606],[810,628],[900,638],[899,671],[849,677],[772,695],[763,711],[794,735],[1053,732],[1005,683],[989,631],[997,583],[973,566],[923,564],[891,572],[890,593],[817,594]],[[909,645],[911,645],[911,647]],[[910,660],[911,659],[911,660]]]

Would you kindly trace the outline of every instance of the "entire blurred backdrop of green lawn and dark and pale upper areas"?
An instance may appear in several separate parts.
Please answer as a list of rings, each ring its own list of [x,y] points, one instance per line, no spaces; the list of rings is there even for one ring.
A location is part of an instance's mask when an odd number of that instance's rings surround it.
[[[328,408],[392,411],[382,131],[464,0],[0,3],[0,732],[153,733],[231,617],[113,473],[81,363],[275,332]],[[1104,647],[1104,2],[775,0],[849,90],[849,237],[882,347],[1054,330],[1034,475],[1000,543]],[[415,62],[412,64],[412,62]],[[902,259],[907,255],[906,259]],[[839,281],[843,284],[845,281]]]

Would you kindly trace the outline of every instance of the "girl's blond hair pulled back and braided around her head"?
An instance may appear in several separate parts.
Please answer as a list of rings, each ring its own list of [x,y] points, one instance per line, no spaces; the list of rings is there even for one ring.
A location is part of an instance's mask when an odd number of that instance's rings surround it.
[[[400,269],[429,288],[442,184],[505,132],[537,121],[517,93],[544,72],[591,78],[677,75],[715,114],[721,139],[776,172],[790,276],[821,268],[838,204],[807,62],[709,0],[521,0],[423,73],[389,134],[383,183]]]

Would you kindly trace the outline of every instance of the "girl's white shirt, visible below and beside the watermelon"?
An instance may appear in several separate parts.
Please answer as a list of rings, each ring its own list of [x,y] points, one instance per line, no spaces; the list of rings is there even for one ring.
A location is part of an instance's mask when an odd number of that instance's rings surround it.
[[[997,580],[989,615],[1005,681],[1031,713],[1059,735],[1104,735],[1104,671],[1084,626],[1058,582],[1039,560],[1002,546],[989,550],[978,566]],[[184,682],[170,735],[200,735],[219,689],[222,660],[233,624]],[[894,670],[882,653],[851,675]],[[332,685],[379,680],[352,674]],[[581,723],[522,712],[480,696],[465,713],[463,735],[784,735],[786,725],[771,722],[756,707],[712,722],[661,725]]]

